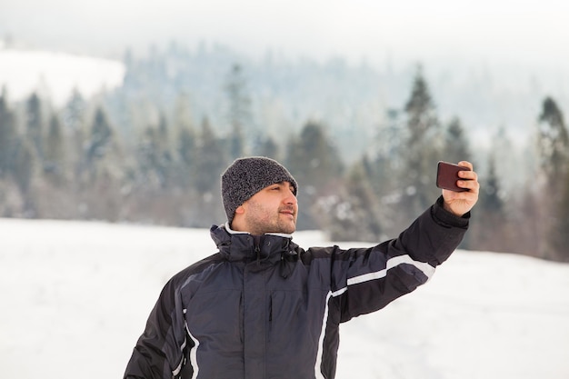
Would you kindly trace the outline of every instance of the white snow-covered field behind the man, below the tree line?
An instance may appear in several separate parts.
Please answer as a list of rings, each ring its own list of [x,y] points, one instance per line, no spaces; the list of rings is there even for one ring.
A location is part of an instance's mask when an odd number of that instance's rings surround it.
[[[165,281],[215,252],[202,229],[0,219],[0,235],[3,378],[122,377]],[[341,330],[341,379],[566,379],[569,264],[457,251]]]

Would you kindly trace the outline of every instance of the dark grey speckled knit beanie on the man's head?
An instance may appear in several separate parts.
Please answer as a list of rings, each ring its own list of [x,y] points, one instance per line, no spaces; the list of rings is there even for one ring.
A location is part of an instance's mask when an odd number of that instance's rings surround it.
[[[221,176],[221,196],[229,224],[233,222],[238,206],[263,188],[281,182],[293,185],[296,195],[298,186],[293,175],[274,159],[265,156],[236,159]]]

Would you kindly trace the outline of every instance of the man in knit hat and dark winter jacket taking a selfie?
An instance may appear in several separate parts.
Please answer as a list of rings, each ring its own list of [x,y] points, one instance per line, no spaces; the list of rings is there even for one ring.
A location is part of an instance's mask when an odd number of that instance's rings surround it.
[[[479,185],[460,175],[467,192],[443,190],[394,240],[304,250],[294,177],[237,159],[222,175],[227,222],[210,231],[219,252],[165,284],[125,378],[334,378],[339,324],[424,284],[462,240]]]

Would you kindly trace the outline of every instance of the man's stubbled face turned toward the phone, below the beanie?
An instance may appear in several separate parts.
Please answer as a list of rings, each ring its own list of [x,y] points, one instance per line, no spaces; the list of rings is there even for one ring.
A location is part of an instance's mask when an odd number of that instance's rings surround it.
[[[245,201],[245,230],[250,234],[284,233],[296,229],[298,203],[289,182],[269,185]]]

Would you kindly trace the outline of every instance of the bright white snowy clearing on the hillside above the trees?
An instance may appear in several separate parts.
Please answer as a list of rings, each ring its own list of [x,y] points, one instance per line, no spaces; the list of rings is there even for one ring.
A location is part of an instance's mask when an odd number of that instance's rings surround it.
[[[0,88],[5,86],[11,100],[39,91],[60,106],[74,89],[90,97],[122,85],[124,76],[125,66],[113,60],[0,46]]]

